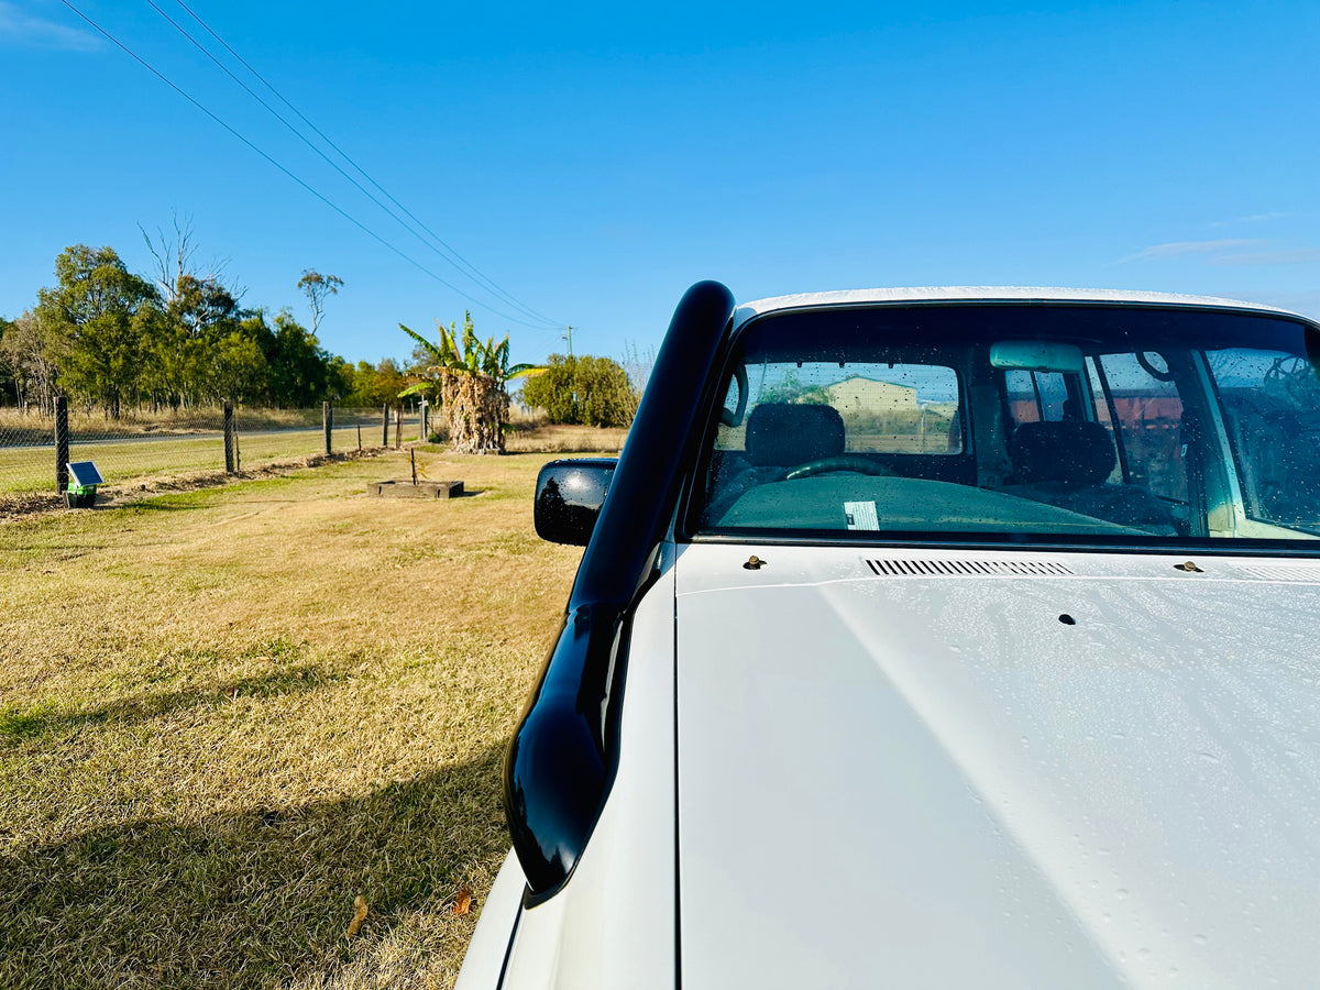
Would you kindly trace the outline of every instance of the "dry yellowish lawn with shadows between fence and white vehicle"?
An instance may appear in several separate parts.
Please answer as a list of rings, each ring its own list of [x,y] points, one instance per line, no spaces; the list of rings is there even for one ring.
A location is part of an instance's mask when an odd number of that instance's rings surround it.
[[[545,455],[405,454],[0,525],[0,986],[453,985],[578,552]],[[346,935],[354,902],[368,915]]]

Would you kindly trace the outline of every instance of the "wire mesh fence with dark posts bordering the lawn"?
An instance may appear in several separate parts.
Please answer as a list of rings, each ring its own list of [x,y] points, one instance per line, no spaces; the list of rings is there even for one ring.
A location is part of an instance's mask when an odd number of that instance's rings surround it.
[[[107,484],[124,484],[395,446],[418,440],[421,429],[416,412],[397,409],[239,408],[227,450],[223,408],[132,411],[117,420],[70,408],[62,458],[58,426],[50,412],[0,409],[0,496],[58,491],[61,462],[92,461]]]

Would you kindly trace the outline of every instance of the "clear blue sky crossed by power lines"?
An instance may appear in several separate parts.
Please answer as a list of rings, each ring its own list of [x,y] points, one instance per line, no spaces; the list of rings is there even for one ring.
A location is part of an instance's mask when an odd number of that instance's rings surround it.
[[[396,248],[334,213],[57,0],[0,0],[0,315],[55,255],[150,256],[193,219],[244,302],[338,275],[322,343],[511,322],[145,0],[73,0]],[[502,7],[186,0],[432,231],[577,352],[659,343],[700,279],[743,300],[875,285],[1204,292],[1320,315],[1320,4]],[[177,0],[157,4],[206,38]],[[223,49],[218,55],[243,77]],[[285,111],[286,112],[286,111]],[[539,322],[539,321],[529,321]]]

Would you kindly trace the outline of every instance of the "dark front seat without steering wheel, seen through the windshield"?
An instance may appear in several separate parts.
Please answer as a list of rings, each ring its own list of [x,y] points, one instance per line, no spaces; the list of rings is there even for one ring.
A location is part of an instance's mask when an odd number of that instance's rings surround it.
[[[1177,536],[1168,507],[1135,484],[1106,484],[1118,463],[1098,422],[1024,422],[1008,444],[1014,483],[1001,491],[1155,536]]]

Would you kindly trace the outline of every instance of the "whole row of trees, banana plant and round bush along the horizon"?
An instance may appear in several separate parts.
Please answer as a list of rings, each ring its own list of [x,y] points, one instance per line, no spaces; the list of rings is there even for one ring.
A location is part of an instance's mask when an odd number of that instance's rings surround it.
[[[150,277],[131,272],[114,248],[74,244],[55,259],[55,284],[37,293],[36,306],[12,321],[0,317],[0,407],[50,413],[55,397],[66,396],[87,412],[119,418],[125,411],[177,412],[226,400],[379,407],[421,393],[442,404],[437,368],[491,376],[484,366],[466,367],[483,352],[500,368],[494,379],[507,409],[506,380],[527,371],[508,367],[508,338],[478,347],[471,314],[461,334],[453,325],[447,330],[453,355],[444,352],[444,326],[438,350],[404,327],[417,342],[411,364],[346,362],[317,338],[342,279],[304,271],[297,288],[308,297],[309,330],[288,309],[272,317],[265,308],[243,306],[243,293],[222,281],[218,267],[199,269],[187,222],[176,218],[173,236],[161,234],[158,242],[143,236],[156,259]],[[553,354],[520,399],[545,409],[550,422],[626,426],[649,360],[634,354],[624,370],[610,358]],[[496,432],[504,418],[496,417]]]

